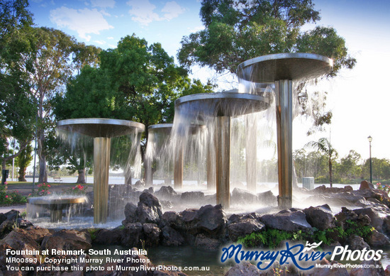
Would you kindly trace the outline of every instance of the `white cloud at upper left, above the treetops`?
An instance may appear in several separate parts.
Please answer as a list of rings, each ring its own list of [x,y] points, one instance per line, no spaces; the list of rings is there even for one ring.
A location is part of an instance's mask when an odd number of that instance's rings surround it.
[[[103,15],[96,9],[69,9],[65,6],[50,11],[50,21],[59,27],[67,27],[77,31],[80,38],[89,41],[91,35],[88,33],[100,34],[100,31],[109,30],[109,25]]]

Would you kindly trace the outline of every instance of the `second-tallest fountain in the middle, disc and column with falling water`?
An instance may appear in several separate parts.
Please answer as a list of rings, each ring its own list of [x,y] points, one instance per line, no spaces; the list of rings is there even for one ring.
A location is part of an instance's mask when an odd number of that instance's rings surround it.
[[[269,107],[269,99],[260,94],[221,92],[192,94],[175,101],[174,135],[183,136],[191,123],[202,122],[208,128],[205,143],[208,148],[208,188],[216,183],[217,204],[230,206],[230,136],[231,118],[263,111]],[[213,129],[215,132],[213,133]],[[182,145],[177,145],[181,148]],[[215,149],[215,177],[211,170],[211,158]],[[176,153],[180,156],[180,153]]]

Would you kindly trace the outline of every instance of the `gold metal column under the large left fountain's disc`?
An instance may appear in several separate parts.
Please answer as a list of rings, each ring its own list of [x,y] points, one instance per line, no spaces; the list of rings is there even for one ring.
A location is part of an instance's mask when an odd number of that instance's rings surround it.
[[[94,223],[106,223],[111,138],[94,138]]]

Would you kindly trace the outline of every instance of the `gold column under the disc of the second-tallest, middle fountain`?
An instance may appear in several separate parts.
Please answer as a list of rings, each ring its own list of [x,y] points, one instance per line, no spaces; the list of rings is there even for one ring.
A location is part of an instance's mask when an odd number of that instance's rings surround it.
[[[230,206],[230,116],[216,118],[217,204]]]

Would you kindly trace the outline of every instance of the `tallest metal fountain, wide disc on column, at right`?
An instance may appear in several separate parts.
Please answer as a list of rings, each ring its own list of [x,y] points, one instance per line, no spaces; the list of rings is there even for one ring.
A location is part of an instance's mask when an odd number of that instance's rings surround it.
[[[321,77],[332,69],[333,60],[309,53],[264,55],[238,66],[238,77],[249,82],[275,85],[277,104],[277,148],[279,173],[278,204],[284,209],[292,205],[292,82]]]

